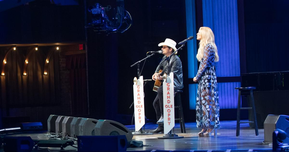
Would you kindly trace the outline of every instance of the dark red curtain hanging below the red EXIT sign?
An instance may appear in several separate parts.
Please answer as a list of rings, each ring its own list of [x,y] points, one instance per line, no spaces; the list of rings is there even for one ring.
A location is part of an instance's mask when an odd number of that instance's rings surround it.
[[[87,115],[88,100],[85,54],[67,56],[66,67],[70,70],[72,114]]]

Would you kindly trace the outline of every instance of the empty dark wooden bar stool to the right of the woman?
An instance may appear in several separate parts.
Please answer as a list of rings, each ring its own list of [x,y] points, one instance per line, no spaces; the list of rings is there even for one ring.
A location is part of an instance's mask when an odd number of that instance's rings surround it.
[[[253,96],[253,89],[256,89],[256,87],[236,87],[235,89],[239,90],[239,93],[238,93],[236,136],[240,135],[240,123],[254,123],[255,134],[259,135],[258,126],[257,126],[257,119],[256,119],[254,96]],[[242,90],[249,90],[250,91],[250,102],[251,102],[252,107],[241,107],[241,96],[247,95],[247,94],[241,94]],[[245,109],[251,109],[252,110],[253,115],[254,115],[254,121],[240,121],[240,110],[245,110]]]

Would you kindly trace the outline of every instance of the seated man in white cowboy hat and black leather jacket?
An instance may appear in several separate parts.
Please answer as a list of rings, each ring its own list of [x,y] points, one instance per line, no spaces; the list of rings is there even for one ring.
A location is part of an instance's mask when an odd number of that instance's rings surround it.
[[[177,50],[176,44],[177,43],[173,41],[172,39],[166,39],[164,42],[158,45],[158,46],[162,46],[162,54],[164,54],[162,61]],[[177,54],[177,52],[175,54]],[[184,87],[183,70],[182,70],[181,60],[175,54],[172,55],[170,58],[170,66],[171,66],[171,72],[174,73],[174,90],[179,90]],[[162,76],[160,76],[158,72],[160,71],[160,69],[166,71],[167,63],[168,61],[164,61],[162,64],[158,65],[157,69],[155,70],[155,74],[153,74],[152,76],[153,80],[163,79]],[[150,133],[159,133],[159,132],[163,133],[164,132],[163,87],[158,88],[158,95],[155,97],[155,100],[153,101],[153,107],[155,109],[155,113],[157,114],[158,128],[149,132]]]

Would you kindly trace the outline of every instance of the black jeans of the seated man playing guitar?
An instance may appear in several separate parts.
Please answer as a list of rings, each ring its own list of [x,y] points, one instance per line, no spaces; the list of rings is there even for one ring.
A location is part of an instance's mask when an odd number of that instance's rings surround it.
[[[155,113],[157,114],[157,120],[164,116],[164,99],[163,99],[163,86],[161,85],[158,88],[158,95],[155,97],[153,101],[153,108],[155,108]]]

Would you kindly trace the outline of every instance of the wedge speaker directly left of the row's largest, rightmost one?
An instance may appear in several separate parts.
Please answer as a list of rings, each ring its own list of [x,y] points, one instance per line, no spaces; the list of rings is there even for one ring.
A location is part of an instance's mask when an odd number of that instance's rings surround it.
[[[90,118],[82,118],[79,125],[79,135],[95,135],[94,127],[98,120]]]

